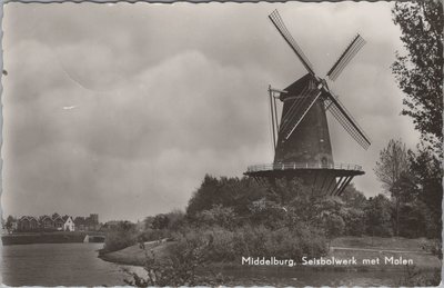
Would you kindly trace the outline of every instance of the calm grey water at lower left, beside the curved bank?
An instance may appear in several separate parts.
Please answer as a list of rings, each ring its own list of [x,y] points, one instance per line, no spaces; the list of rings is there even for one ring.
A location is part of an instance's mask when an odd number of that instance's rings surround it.
[[[99,259],[103,244],[3,246],[2,282],[8,286],[123,286],[122,265]],[[139,267],[128,267],[141,272]]]

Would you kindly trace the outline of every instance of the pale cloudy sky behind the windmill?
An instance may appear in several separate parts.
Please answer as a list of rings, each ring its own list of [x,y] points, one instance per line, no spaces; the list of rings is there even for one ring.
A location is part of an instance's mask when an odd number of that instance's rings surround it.
[[[184,209],[205,173],[272,162],[268,86],[306,73],[268,19],[274,9],[321,77],[357,32],[366,40],[329,86],[371,148],[329,125],[335,162],[362,165],[355,187],[380,193],[380,150],[418,142],[390,70],[403,52],[392,6],[6,4],[3,217],[141,220]]]

